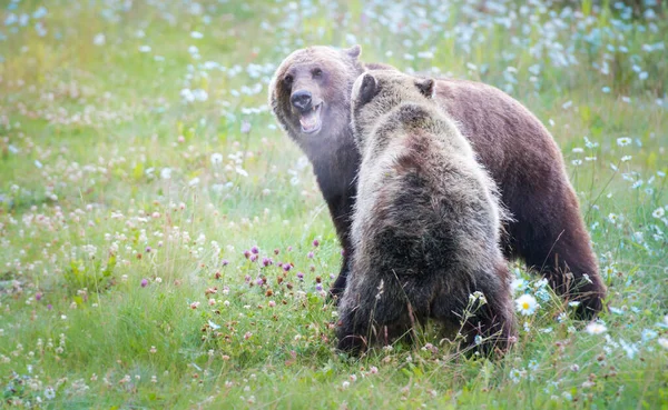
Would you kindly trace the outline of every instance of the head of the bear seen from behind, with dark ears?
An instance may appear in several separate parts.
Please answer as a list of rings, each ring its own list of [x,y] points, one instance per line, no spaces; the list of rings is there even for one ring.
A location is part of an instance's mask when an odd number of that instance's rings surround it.
[[[351,97],[352,126],[360,151],[379,118],[402,103],[434,104],[435,82],[394,70],[365,72],[353,84]]]

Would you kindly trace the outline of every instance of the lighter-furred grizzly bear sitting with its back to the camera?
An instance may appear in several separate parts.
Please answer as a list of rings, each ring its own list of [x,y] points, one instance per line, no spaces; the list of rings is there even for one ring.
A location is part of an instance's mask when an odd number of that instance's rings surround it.
[[[430,318],[488,352],[514,336],[497,187],[433,89],[433,80],[399,71],[371,71],[353,84],[362,162],[338,307],[342,350],[410,336]],[[477,292],[487,302],[471,307]]]

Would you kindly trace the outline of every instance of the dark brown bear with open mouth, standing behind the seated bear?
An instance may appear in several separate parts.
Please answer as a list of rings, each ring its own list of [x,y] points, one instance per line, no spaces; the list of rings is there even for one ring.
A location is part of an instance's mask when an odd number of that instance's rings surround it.
[[[389,66],[362,63],[361,49],[310,47],[289,54],[276,70],[269,103],[281,126],[313,164],[344,248],[341,273],[332,287],[345,289],[353,250],[351,216],[360,152],[351,129],[350,96],[355,79]],[[514,221],[507,224],[507,258],[522,258],[548,278],[578,314],[602,309],[606,287],[563,159],[542,123],[521,103],[483,83],[440,79],[434,100],[469,139],[478,160],[501,191]]]

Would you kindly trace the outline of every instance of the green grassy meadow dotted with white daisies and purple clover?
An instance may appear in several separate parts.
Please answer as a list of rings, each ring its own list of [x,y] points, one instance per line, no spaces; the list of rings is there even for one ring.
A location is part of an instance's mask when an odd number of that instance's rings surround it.
[[[664,2],[664,8],[666,3]],[[519,1],[0,2],[0,408],[667,409],[668,20]],[[562,149],[608,311],[337,352],[341,248],[267,87],[308,44],[480,80]]]

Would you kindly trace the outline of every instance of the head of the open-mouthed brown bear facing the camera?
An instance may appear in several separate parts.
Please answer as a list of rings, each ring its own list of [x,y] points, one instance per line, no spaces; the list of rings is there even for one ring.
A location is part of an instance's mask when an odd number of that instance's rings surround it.
[[[269,106],[281,126],[303,148],[350,127],[350,92],[364,71],[362,49],[314,46],[289,54],[269,86]]]

